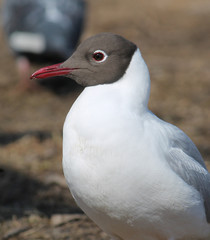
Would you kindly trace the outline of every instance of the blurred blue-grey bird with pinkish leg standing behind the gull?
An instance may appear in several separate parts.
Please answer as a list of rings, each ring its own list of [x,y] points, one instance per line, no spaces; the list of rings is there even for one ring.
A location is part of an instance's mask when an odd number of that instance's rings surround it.
[[[3,28],[16,57],[21,90],[37,87],[29,81],[32,61],[54,63],[73,53],[85,10],[84,0],[3,1]]]

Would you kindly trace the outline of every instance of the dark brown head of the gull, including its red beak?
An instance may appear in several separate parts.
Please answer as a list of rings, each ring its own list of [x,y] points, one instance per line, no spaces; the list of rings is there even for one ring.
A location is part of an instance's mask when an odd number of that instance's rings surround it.
[[[136,48],[119,35],[101,33],[81,43],[64,63],[42,68],[31,78],[63,75],[85,87],[113,83],[125,73]]]

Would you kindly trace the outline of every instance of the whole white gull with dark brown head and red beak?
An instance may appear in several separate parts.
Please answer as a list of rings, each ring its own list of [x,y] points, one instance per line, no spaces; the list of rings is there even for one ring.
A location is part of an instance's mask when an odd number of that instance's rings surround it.
[[[102,33],[32,78],[85,86],[63,130],[63,170],[81,209],[113,239],[210,239],[210,175],[190,138],[147,107],[139,48]]]

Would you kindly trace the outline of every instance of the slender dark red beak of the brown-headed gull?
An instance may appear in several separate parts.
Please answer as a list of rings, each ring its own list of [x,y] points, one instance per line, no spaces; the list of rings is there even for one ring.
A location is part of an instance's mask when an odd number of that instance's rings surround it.
[[[65,68],[61,67],[62,63],[54,64],[48,67],[43,67],[33,73],[30,77],[30,79],[34,78],[48,78],[48,77],[54,77],[54,76],[60,76],[60,75],[68,75],[76,68]]]

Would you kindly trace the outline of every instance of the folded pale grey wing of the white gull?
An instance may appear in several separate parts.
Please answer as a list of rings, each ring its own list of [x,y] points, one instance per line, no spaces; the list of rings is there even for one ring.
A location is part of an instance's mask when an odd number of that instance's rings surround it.
[[[200,192],[210,223],[210,174],[194,143],[181,130],[176,130],[171,138],[168,163],[177,175]]]

